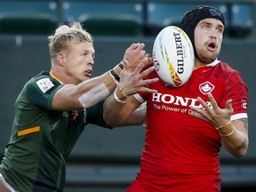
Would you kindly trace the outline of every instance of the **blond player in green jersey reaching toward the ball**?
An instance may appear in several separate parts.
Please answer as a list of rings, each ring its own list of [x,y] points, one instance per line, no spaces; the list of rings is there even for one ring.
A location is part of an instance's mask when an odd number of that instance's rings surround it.
[[[112,128],[102,116],[103,102],[119,78],[130,82],[129,94],[155,92],[144,85],[157,79],[142,79],[155,68],[140,73],[150,63],[144,44],[132,44],[122,64],[91,78],[93,41],[80,23],[60,25],[48,39],[50,72],[32,77],[15,101],[12,133],[0,165],[1,192],[62,191],[66,159],[84,126]],[[122,88],[119,91],[122,94]],[[143,124],[140,114],[129,116],[124,125]]]

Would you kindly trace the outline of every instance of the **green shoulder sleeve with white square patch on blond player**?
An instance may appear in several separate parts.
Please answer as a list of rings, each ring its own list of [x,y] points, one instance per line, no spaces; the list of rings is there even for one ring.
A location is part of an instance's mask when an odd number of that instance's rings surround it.
[[[28,81],[26,86],[29,102],[41,108],[52,109],[52,98],[63,84],[51,76],[37,76]]]

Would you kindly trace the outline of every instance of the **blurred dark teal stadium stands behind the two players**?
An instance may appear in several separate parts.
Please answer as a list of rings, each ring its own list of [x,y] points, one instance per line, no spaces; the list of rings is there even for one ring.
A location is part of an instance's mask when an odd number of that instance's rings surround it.
[[[196,4],[212,5],[226,17],[220,60],[242,74],[249,88],[246,156],[221,151],[222,191],[256,189],[256,1],[254,0],[0,0],[0,157],[9,140],[13,104],[31,76],[51,67],[47,36],[60,23],[83,23],[94,38],[93,76],[116,65],[132,43],[152,52],[159,30],[180,25]],[[65,192],[122,192],[139,171],[145,127],[112,131],[88,125],[67,166]]]

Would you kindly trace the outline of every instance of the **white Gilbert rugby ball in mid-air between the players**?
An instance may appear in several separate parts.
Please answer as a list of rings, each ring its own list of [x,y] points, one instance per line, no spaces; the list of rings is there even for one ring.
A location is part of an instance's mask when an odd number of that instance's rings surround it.
[[[193,45],[187,34],[176,26],[165,27],[159,32],[152,56],[156,73],[166,85],[180,87],[193,72]]]

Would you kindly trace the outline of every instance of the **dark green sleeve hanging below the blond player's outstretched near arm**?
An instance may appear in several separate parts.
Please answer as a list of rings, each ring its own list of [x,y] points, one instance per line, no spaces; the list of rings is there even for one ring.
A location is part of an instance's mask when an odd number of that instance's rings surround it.
[[[87,124],[96,124],[98,126],[113,129],[112,126],[106,124],[103,118],[103,103],[105,100],[101,100],[96,105],[92,106],[91,108],[87,108],[87,117],[86,123]]]

